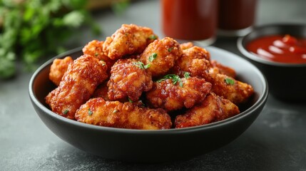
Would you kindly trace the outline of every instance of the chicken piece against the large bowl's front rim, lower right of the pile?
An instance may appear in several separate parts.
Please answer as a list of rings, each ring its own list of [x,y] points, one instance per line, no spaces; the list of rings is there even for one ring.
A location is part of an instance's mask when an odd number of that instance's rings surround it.
[[[207,95],[202,103],[175,118],[175,128],[187,128],[224,120],[240,113],[237,105],[214,93]]]

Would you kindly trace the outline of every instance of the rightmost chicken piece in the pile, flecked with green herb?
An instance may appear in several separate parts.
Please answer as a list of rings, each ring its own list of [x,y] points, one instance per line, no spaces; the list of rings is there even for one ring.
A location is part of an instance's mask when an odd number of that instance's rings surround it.
[[[210,68],[209,76],[205,80],[213,84],[212,90],[215,94],[223,96],[236,105],[245,103],[254,93],[253,87],[248,83],[219,73],[215,68]]]

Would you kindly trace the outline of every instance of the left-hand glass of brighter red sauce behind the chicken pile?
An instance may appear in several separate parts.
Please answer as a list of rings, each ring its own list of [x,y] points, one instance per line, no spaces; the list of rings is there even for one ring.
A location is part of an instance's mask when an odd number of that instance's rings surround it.
[[[213,43],[218,23],[218,0],[161,0],[165,36]]]

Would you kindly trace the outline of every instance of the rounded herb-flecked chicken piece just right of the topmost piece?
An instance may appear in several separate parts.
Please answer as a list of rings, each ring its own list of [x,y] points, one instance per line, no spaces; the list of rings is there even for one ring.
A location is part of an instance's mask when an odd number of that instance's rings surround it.
[[[165,75],[181,55],[180,44],[173,38],[165,37],[150,43],[139,60],[150,65],[148,72],[157,77]]]

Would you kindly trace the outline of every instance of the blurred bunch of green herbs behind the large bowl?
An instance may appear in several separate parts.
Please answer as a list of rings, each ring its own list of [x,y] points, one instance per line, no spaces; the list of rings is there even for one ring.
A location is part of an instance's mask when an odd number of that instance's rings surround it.
[[[0,78],[14,76],[16,61],[22,61],[26,69],[34,69],[41,58],[66,51],[68,41],[77,38],[77,28],[81,26],[90,26],[93,33],[100,33],[86,10],[87,3],[0,0]]]

